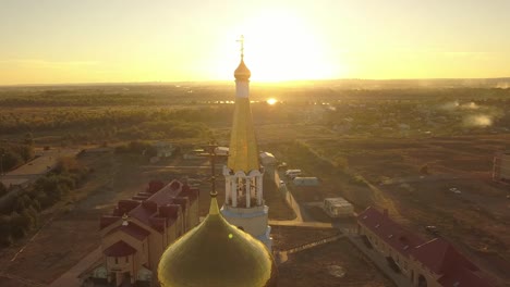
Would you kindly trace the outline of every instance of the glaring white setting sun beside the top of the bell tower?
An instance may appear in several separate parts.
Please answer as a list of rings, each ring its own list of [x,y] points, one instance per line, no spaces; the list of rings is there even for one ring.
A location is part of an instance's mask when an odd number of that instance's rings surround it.
[[[281,82],[336,76],[326,47],[313,26],[287,11],[254,16],[240,35],[245,37],[245,62],[252,79]]]

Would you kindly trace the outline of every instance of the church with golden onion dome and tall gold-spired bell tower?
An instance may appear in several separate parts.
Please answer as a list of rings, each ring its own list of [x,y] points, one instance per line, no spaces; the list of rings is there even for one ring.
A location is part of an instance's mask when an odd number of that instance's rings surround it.
[[[235,107],[226,177],[226,201],[218,208],[215,175],[207,217],[161,255],[161,287],[275,287],[278,271],[271,254],[268,208],[250,108],[251,72],[244,63],[234,72]],[[214,157],[211,157],[214,166]],[[214,169],[214,167],[212,167]]]

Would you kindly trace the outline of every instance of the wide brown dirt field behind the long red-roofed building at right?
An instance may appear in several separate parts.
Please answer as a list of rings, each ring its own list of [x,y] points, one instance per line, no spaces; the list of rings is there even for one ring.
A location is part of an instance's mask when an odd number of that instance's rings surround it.
[[[294,188],[298,201],[343,196],[356,210],[386,208],[425,238],[432,236],[424,227],[436,225],[440,236],[510,286],[510,186],[491,182],[490,174],[495,152],[509,142],[509,135],[306,140],[315,155],[343,159],[349,171],[372,187],[347,177],[340,167],[301,159],[291,148],[279,147],[278,152],[292,169],[323,179],[320,187]],[[424,165],[428,174],[421,172]],[[461,194],[450,191],[453,187]]]

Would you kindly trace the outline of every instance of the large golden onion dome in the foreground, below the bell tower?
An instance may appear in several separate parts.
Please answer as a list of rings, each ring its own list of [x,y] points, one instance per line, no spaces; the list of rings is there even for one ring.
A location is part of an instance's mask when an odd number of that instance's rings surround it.
[[[266,247],[219,213],[216,197],[201,225],[161,255],[161,287],[277,286],[277,269]]]

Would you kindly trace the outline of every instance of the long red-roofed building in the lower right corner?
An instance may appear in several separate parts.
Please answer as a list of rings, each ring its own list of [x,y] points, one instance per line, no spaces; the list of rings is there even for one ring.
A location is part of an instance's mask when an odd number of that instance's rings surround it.
[[[479,269],[442,238],[426,241],[369,207],[357,216],[357,233],[396,272],[418,287],[493,287]]]

